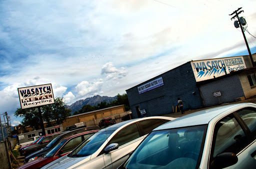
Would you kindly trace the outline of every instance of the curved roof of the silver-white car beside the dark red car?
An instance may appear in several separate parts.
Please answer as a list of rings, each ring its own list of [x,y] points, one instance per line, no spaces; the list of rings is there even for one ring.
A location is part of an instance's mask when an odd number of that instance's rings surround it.
[[[143,117],[138,119],[131,119],[124,122],[116,123],[114,125],[111,125],[105,129],[101,129],[99,132],[106,132],[106,131],[115,131],[119,129],[122,126],[128,126],[131,123],[142,121],[142,120],[149,120],[149,119],[165,119],[165,120],[174,120],[175,118],[172,117],[164,117],[164,116],[152,116],[152,117]]]

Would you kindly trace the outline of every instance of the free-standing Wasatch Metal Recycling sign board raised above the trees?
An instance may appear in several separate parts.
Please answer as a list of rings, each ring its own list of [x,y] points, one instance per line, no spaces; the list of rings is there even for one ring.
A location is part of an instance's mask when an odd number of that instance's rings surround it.
[[[54,104],[51,84],[18,88],[21,109]]]

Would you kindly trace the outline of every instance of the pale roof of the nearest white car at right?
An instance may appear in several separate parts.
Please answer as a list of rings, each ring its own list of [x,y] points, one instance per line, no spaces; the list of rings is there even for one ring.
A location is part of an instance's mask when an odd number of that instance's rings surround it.
[[[177,128],[177,127],[208,124],[212,119],[214,119],[219,115],[223,116],[233,111],[236,111],[237,109],[244,108],[244,107],[252,107],[252,106],[256,106],[256,104],[240,103],[240,104],[225,105],[225,106],[219,106],[211,109],[201,110],[195,113],[182,116],[171,122],[167,122],[155,128],[153,131],[171,129],[171,128]]]

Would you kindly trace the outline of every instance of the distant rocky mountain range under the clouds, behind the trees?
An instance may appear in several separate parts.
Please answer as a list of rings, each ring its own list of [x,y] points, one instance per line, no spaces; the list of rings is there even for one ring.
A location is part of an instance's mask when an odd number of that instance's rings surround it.
[[[73,114],[75,111],[82,109],[82,106],[84,105],[97,106],[100,102],[110,103],[115,99],[116,99],[116,96],[108,97],[108,96],[96,95],[93,97],[86,98],[84,100],[78,100],[67,107],[72,110],[71,114]]]

